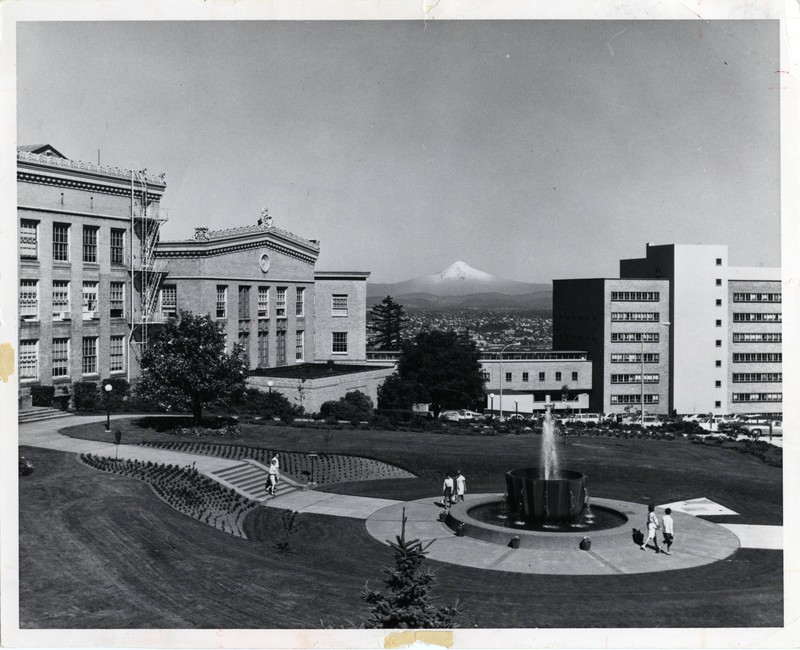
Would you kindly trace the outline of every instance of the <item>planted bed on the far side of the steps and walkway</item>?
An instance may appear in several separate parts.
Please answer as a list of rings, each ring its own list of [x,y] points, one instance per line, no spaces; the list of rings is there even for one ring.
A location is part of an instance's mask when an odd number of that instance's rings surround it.
[[[159,449],[229,458],[231,460],[254,460],[262,465],[269,465],[270,459],[275,454],[278,454],[281,473],[297,481],[310,481],[313,476],[314,482],[317,484],[415,477],[414,474],[400,467],[362,456],[318,454],[312,457],[296,451],[190,441],[147,442],[141,444]]]

